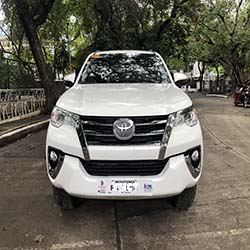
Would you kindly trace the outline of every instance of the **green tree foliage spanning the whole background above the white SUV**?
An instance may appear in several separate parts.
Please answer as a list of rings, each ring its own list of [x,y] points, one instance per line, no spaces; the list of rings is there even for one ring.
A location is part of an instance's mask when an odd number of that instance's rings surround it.
[[[3,1],[15,54],[34,62],[13,3]],[[36,1],[29,3],[35,11]],[[247,83],[249,25],[246,0],[56,0],[39,37],[54,75],[69,72],[69,53],[79,68],[92,51],[145,49],[160,52],[173,70],[198,60]]]

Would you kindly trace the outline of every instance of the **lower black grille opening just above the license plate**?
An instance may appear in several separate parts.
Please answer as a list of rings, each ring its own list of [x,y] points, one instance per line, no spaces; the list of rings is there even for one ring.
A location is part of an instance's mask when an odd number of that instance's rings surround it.
[[[149,176],[162,172],[168,159],[136,161],[82,161],[88,174],[94,176]]]

